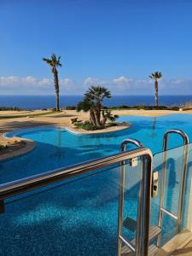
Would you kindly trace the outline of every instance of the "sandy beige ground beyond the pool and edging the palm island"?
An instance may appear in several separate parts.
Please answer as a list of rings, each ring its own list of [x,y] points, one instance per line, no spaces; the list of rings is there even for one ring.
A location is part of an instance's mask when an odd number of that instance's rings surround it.
[[[48,110],[49,111],[49,110]],[[125,126],[114,126],[104,131],[83,131],[83,130],[76,130],[74,126],[71,124],[71,119],[78,118],[79,120],[88,120],[89,113],[84,112],[76,112],[75,110],[64,110],[60,113],[51,113],[43,116],[34,116],[34,117],[22,117],[23,114],[32,114],[32,113],[44,113],[47,111],[1,111],[0,112],[0,143],[6,145],[11,142],[3,137],[3,133],[15,129],[20,128],[27,128],[27,127],[35,127],[35,126],[42,126],[42,125],[58,125],[58,126],[65,126],[69,130],[74,132],[80,133],[98,133],[98,132],[109,132],[109,131],[119,131],[125,129]],[[118,114],[119,116],[123,115],[137,115],[137,116],[162,116],[166,114],[172,113],[192,113],[192,110],[178,112],[178,111],[171,111],[171,110],[113,110],[113,114]],[[1,119],[1,116],[5,115],[12,115],[13,118],[11,119]],[[15,115],[20,115],[19,118],[14,118]],[[14,147],[16,150],[16,147]],[[18,143],[18,148],[20,148],[20,144]],[[31,147],[32,148],[32,147]],[[1,154],[1,153],[0,153]]]

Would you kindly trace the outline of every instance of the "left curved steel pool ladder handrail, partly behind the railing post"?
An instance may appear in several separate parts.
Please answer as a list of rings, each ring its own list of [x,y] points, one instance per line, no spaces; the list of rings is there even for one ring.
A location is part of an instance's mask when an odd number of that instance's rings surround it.
[[[120,144],[120,151],[124,152],[126,150],[126,145],[127,144],[133,144],[137,146],[137,148],[142,148],[143,144],[140,143],[136,139],[128,138],[125,139],[121,144]],[[143,166],[144,168],[144,166]],[[144,169],[143,169],[144,170]],[[144,174],[143,174],[144,176]],[[144,177],[143,177],[144,178]],[[140,186],[142,186],[143,183],[140,183]],[[150,186],[149,186],[150,187]],[[140,219],[143,218],[143,195],[142,195],[142,189],[140,189],[140,195],[139,195],[139,203],[138,203],[138,209],[137,209],[137,237],[136,237],[136,247],[133,247],[131,244],[131,241],[127,241],[122,233],[123,233],[123,206],[124,206],[124,190],[125,190],[125,161],[121,162],[120,165],[120,183],[119,183],[119,212],[118,212],[118,255],[121,255],[121,247],[122,247],[122,241],[125,242],[125,245],[131,249],[132,252],[137,253],[137,255],[140,255],[142,252],[142,247],[141,245],[141,235],[140,233],[143,232],[141,230],[140,226]],[[150,208],[150,202],[149,202],[149,208]],[[146,209],[145,209],[146,210]],[[147,213],[147,212],[146,212]],[[147,213],[148,214],[148,213]],[[146,232],[146,230],[145,230]],[[145,254],[141,255],[147,255],[147,252],[145,251]]]

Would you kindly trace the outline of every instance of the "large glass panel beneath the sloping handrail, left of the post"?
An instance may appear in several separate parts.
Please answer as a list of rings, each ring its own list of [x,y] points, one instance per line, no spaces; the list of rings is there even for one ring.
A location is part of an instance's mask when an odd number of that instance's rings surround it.
[[[125,169],[124,218],[137,220],[141,163]],[[118,205],[119,164],[9,198],[0,255],[116,255]]]

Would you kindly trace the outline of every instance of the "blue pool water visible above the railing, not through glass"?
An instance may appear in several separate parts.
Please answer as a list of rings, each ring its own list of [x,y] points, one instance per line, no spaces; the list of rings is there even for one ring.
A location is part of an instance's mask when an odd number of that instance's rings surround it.
[[[34,140],[37,146],[29,154],[0,164],[1,183],[118,153],[120,143],[127,137],[137,138],[153,153],[162,150],[163,134],[171,128],[183,129],[192,141],[192,116],[189,114],[172,114],[155,118],[127,116],[120,117],[119,121],[131,122],[131,128],[100,135],[74,135],[65,129],[55,127],[36,128],[17,133],[19,137]],[[9,133],[10,137],[14,135],[15,132]],[[175,135],[170,137],[170,148],[180,144],[182,144],[180,137]]]

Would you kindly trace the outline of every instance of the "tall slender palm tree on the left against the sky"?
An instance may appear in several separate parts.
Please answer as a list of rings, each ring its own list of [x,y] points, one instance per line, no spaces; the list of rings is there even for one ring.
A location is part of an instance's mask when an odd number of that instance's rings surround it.
[[[43,61],[45,61],[51,67],[51,72],[54,75],[55,94],[56,94],[56,111],[60,111],[60,98],[59,98],[60,87],[59,87],[58,71],[56,69],[56,67],[61,67],[60,59],[61,59],[61,56],[57,58],[55,54],[52,54],[50,56],[50,59],[43,58]]]

